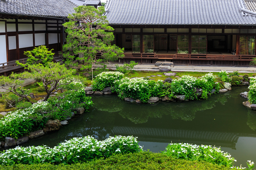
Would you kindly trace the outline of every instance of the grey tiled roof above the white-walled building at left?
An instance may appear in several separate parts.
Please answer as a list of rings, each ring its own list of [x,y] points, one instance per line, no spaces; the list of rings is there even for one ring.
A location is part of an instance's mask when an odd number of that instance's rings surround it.
[[[75,12],[75,4],[68,0],[1,0],[0,13],[67,18]]]

